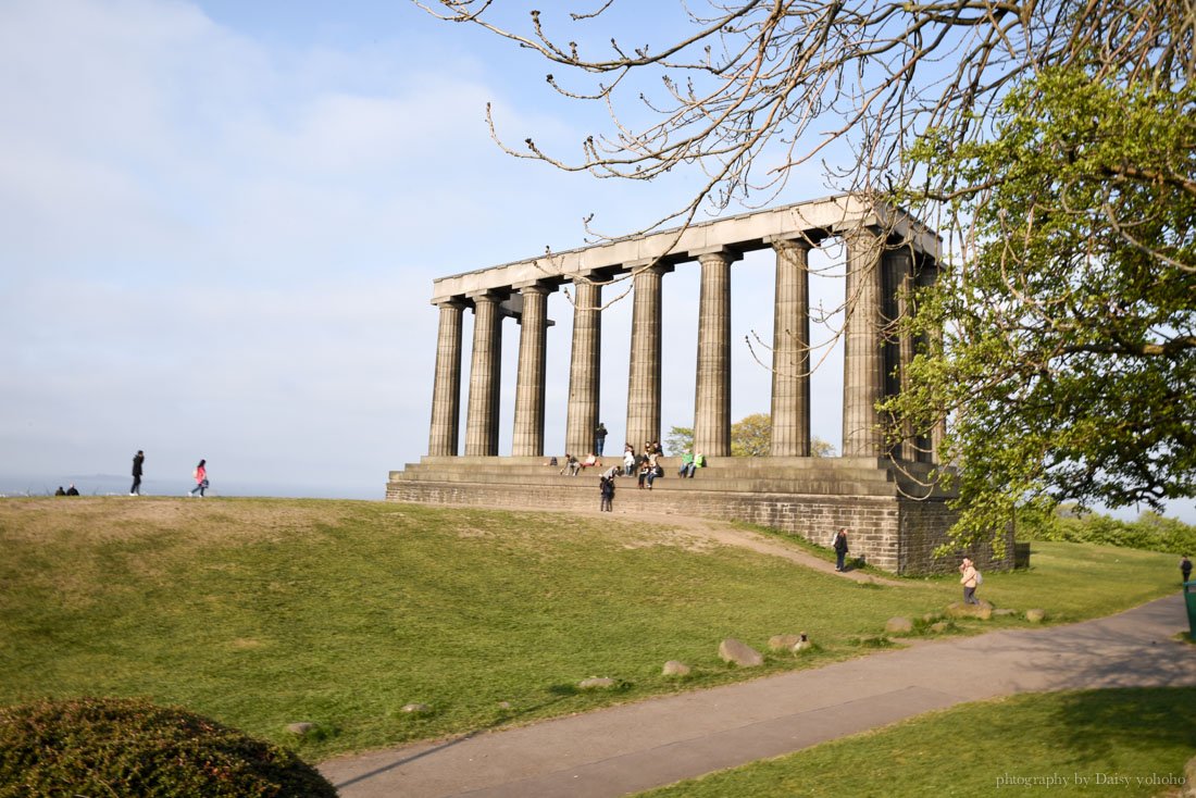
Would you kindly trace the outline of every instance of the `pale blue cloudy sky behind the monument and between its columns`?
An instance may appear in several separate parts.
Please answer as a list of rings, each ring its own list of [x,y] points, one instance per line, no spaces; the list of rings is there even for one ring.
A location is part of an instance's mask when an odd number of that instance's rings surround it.
[[[182,492],[205,457],[228,494],[380,498],[388,470],[427,450],[434,278],[581,245],[590,213],[631,232],[697,185],[597,181],[500,152],[488,102],[509,140],[557,152],[597,127],[548,71],[404,0],[0,0],[0,491],[99,489],[93,475],[127,474],[144,449],[151,493]],[[811,172],[779,202],[829,193]],[[832,305],[842,282],[826,263],[813,291]],[[771,335],[770,258],[733,274],[738,419],[768,410],[768,372],[743,341]],[[665,281],[667,430],[692,419],[696,266]],[[604,321],[614,440],[629,311]],[[545,437],[559,452],[561,294],[549,316]],[[813,426],[836,446],[841,391],[830,351]]]

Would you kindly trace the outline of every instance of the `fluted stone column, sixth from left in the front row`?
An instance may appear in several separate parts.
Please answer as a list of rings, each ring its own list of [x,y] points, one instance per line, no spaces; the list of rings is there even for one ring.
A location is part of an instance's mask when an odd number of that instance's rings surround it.
[[[694,452],[713,457],[731,455],[731,263],[740,257],[722,248],[697,254],[702,294],[697,311]]]

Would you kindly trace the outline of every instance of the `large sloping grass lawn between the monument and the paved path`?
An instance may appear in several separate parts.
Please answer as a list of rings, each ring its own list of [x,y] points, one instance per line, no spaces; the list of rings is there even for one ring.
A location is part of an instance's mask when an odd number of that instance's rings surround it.
[[[364,501],[8,499],[0,552],[0,703],[142,696],[309,760],[859,656],[886,619],[959,597],[622,520]],[[1042,543],[981,595],[1092,617],[1174,591],[1172,559]],[[750,671],[716,656],[797,632],[818,648]],[[667,659],[694,675],[661,677]],[[621,689],[579,693],[588,676]],[[300,720],[321,733],[288,737]]]

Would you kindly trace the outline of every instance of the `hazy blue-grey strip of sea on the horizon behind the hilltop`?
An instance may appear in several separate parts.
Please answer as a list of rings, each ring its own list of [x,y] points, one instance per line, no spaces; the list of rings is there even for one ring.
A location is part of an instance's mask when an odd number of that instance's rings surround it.
[[[114,474],[75,474],[54,477],[0,475],[0,497],[48,497],[61,485],[74,482],[85,497],[128,495],[132,476]],[[142,480],[141,495],[181,497],[191,488],[191,480]],[[271,485],[267,482],[213,482],[208,495],[214,497],[277,497],[289,499],[384,499],[385,475],[374,486],[310,486]]]

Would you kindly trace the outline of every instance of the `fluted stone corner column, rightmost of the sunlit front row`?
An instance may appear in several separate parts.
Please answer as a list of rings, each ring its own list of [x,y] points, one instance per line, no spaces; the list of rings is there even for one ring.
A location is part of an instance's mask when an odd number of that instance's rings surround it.
[[[843,457],[884,453],[881,419],[875,410],[884,395],[884,319],[881,316],[879,231],[856,227],[847,243],[847,321],[843,351]]]

